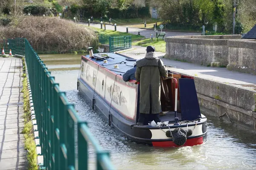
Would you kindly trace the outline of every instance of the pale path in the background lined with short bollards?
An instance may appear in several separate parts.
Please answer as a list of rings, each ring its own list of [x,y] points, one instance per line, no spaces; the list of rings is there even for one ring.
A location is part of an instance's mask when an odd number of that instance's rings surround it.
[[[88,23],[84,23],[84,24],[88,25]],[[100,24],[91,23],[90,26],[100,28]],[[112,25],[106,25],[106,29],[115,30],[115,27]],[[116,31],[126,32],[126,26],[116,26]],[[150,34],[154,35],[154,30],[128,27],[128,32],[131,34],[138,34],[138,31],[140,31],[140,35],[145,36],[146,38],[150,38]],[[158,30],[158,33],[160,32],[161,30]],[[195,33],[195,32],[173,32],[173,31],[165,31],[165,32],[166,32],[165,37],[181,36],[181,35],[201,35],[201,33]]]

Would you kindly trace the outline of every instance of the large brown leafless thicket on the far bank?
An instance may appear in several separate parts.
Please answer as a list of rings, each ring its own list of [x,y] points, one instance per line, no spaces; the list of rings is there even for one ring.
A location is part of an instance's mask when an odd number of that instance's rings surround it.
[[[21,17],[0,28],[0,39],[24,37],[38,53],[84,51],[97,45],[91,28],[58,17]]]

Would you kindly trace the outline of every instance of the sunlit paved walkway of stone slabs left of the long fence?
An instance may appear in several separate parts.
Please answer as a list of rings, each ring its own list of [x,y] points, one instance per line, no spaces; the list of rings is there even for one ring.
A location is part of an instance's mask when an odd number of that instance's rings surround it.
[[[0,57],[0,170],[25,170],[21,59]]]

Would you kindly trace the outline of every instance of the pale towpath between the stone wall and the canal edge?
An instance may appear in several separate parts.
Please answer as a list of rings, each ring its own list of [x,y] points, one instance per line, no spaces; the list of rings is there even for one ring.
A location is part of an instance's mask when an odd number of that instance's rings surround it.
[[[140,59],[145,57],[145,47],[133,46],[131,50],[119,52],[128,57]],[[165,65],[170,65],[169,70],[178,73],[209,79],[217,82],[227,83],[239,88],[246,88],[256,92],[256,75],[241,73],[239,71],[229,71],[227,68],[207,67],[203,65],[175,61],[163,58],[165,53],[156,52],[157,57],[161,58]]]

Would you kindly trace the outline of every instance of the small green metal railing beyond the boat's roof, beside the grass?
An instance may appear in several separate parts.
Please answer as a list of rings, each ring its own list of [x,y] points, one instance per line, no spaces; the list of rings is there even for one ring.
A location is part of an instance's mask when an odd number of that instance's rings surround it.
[[[131,36],[109,37],[109,51],[121,51],[131,48]]]

